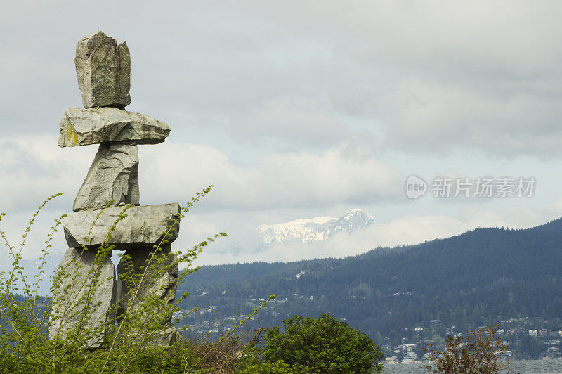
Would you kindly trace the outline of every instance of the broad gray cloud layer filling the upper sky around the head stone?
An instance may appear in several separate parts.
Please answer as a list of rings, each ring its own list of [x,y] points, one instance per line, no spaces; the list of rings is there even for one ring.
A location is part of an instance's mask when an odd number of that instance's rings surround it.
[[[74,44],[102,28],[129,42],[131,109],[183,118],[182,136],[226,132],[254,148],[245,153],[364,139],[372,149],[560,156],[560,4],[10,6],[0,26],[14,57],[0,61],[8,131],[48,131],[44,122],[79,104]]]

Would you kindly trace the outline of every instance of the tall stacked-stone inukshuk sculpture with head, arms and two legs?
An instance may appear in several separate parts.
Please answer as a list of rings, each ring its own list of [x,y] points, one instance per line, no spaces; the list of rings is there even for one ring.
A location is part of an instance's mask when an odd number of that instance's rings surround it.
[[[86,175],[76,200],[74,212],[63,219],[65,238],[69,249],[60,262],[64,273],[76,273],[60,280],[60,290],[71,290],[72,283],[86,285],[75,287],[72,292],[81,294],[89,290],[89,278],[93,272],[94,259],[107,233],[114,226],[124,205],[127,216],[119,221],[107,240],[115,245],[115,250],[123,250],[130,256],[129,262],[122,260],[115,266],[110,257],[98,266],[98,284],[93,294],[93,312],[86,321],[86,327],[101,328],[142,306],[143,297],[157,295],[163,302],[171,303],[176,295],[178,268],[168,266],[176,261],[169,243],[174,241],[179,231],[180,206],[178,204],[139,205],[138,188],[138,150],[139,144],[162,143],[169,136],[169,127],[148,115],[124,110],[131,103],[129,96],[131,60],[126,43],[117,44],[115,39],[103,32],[96,32],[81,39],[76,47],[74,60],[78,75],[82,103],[86,109],[68,108],[60,122],[60,147],[86,146],[99,144],[98,153]],[[109,207],[107,202],[112,200]],[[103,209],[103,213],[100,214]],[[96,217],[100,214],[100,217]],[[95,226],[89,232],[93,221]],[[173,230],[169,230],[173,227]],[[162,243],[164,233],[168,243],[154,256],[154,246]],[[87,239],[86,239],[87,238]],[[86,247],[86,250],[83,248]],[[143,273],[148,259],[152,257],[155,269],[145,273],[145,283],[133,299],[131,284],[126,279],[126,271],[137,276]],[[160,259],[161,261],[157,261]],[[130,274],[129,273],[129,276]],[[58,297],[69,297],[65,291]],[[131,304],[131,299],[133,299]],[[60,300],[55,300],[60,301]],[[72,304],[67,300],[51,311],[49,333],[66,336],[78,323],[82,304]],[[115,306],[117,303],[117,306]],[[63,310],[65,309],[66,310]],[[70,313],[69,313],[70,310]],[[117,321],[120,321],[119,318]],[[104,335],[102,333],[101,335]],[[158,344],[171,344],[177,330],[171,325],[171,316],[162,323],[162,332],[156,339]],[[93,336],[87,345],[95,348],[103,343],[105,336]]]

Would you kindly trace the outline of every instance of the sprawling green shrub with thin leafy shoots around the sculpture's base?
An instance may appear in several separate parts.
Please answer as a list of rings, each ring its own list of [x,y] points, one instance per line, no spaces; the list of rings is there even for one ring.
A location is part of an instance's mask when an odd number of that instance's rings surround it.
[[[204,188],[202,193],[197,193],[181,209],[180,217],[211,191],[211,186]],[[177,373],[183,372],[191,365],[192,354],[181,351],[181,355],[174,354],[173,350],[159,347],[155,344],[157,337],[166,321],[176,313],[181,313],[179,304],[187,293],[176,297],[174,302],[168,303],[153,295],[141,296],[140,290],[150,281],[148,274],[159,274],[169,271],[174,266],[183,264],[187,269],[178,276],[176,282],[181,283],[190,269],[193,260],[203,247],[215,238],[226,236],[218,233],[212,238],[195,245],[185,254],[176,251],[174,261],[162,264],[159,256],[162,246],[168,243],[168,238],[174,231],[176,222],[166,227],[162,240],[150,252],[143,271],[131,278],[136,281],[136,288],[131,288],[131,301],[126,313],[118,321],[108,318],[106,323],[92,325],[89,320],[97,304],[93,295],[96,293],[100,282],[103,281],[100,268],[105,259],[110,256],[114,245],[109,245],[112,231],[119,222],[126,217],[129,205],[123,207],[119,217],[107,232],[103,245],[91,249],[85,245],[77,251],[80,257],[86,253],[95,253],[91,270],[82,276],[80,264],[59,267],[51,276],[51,289],[47,297],[40,297],[39,283],[45,277],[44,264],[47,263],[48,250],[51,241],[61,224],[60,219],[48,233],[44,248],[41,250],[37,272],[31,278],[22,266],[22,249],[25,246],[27,234],[32,224],[47,202],[61,195],[51,196],[34,213],[29,225],[25,228],[20,245],[11,245],[4,231],[0,230],[0,240],[8,248],[8,253],[13,258],[12,268],[6,273],[0,272],[0,371],[4,373],[103,373],[103,372],[154,372],[150,367],[157,368],[158,372]],[[110,205],[108,202],[107,205]],[[92,233],[96,221],[103,209],[100,209],[96,219],[91,223],[89,233]],[[0,220],[4,217],[0,213]],[[86,242],[89,238],[86,238]],[[131,276],[132,277],[132,276]],[[166,284],[167,285],[167,284]],[[163,285],[166,286],[166,285]],[[21,296],[20,296],[21,295]],[[142,307],[131,309],[135,297]],[[117,304],[112,308],[115,309]],[[59,314],[51,313],[58,310]],[[108,316],[115,316],[115,310],[110,310]],[[189,313],[189,312],[188,312]],[[77,323],[67,324],[67,318],[75,318]],[[49,333],[49,328],[51,332]],[[98,349],[90,349],[90,342],[99,342]],[[180,342],[181,343],[181,342]],[[177,347],[176,347],[177,348]],[[197,362],[195,362],[197,363]],[[152,370],[152,371],[151,371]]]

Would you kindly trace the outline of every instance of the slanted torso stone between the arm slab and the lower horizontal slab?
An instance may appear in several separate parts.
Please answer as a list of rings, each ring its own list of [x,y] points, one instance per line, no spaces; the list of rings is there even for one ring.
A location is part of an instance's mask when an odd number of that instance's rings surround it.
[[[111,206],[139,204],[138,149],[134,144],[102,143],[84,179],[74,212]]]

